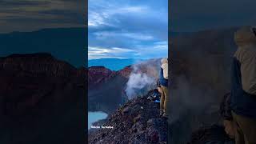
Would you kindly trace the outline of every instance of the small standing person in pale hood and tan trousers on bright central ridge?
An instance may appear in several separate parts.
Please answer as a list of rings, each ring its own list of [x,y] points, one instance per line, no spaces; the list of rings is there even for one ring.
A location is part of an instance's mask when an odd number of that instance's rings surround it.
[[[161,86],[160,116],[167,117],[166,107],[168,101],[168,59],[162,58],[161,71],[159,76]]]

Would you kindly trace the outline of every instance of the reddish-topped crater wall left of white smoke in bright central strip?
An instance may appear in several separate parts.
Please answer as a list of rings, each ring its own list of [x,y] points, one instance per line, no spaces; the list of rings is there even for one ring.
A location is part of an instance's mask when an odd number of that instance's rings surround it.
[[[108,114],[126,101],[124,92],[128,78],[125,70],[113,71],[104,66],[92,66],[88,70],[88,109],[89,111],[104,111]]]

